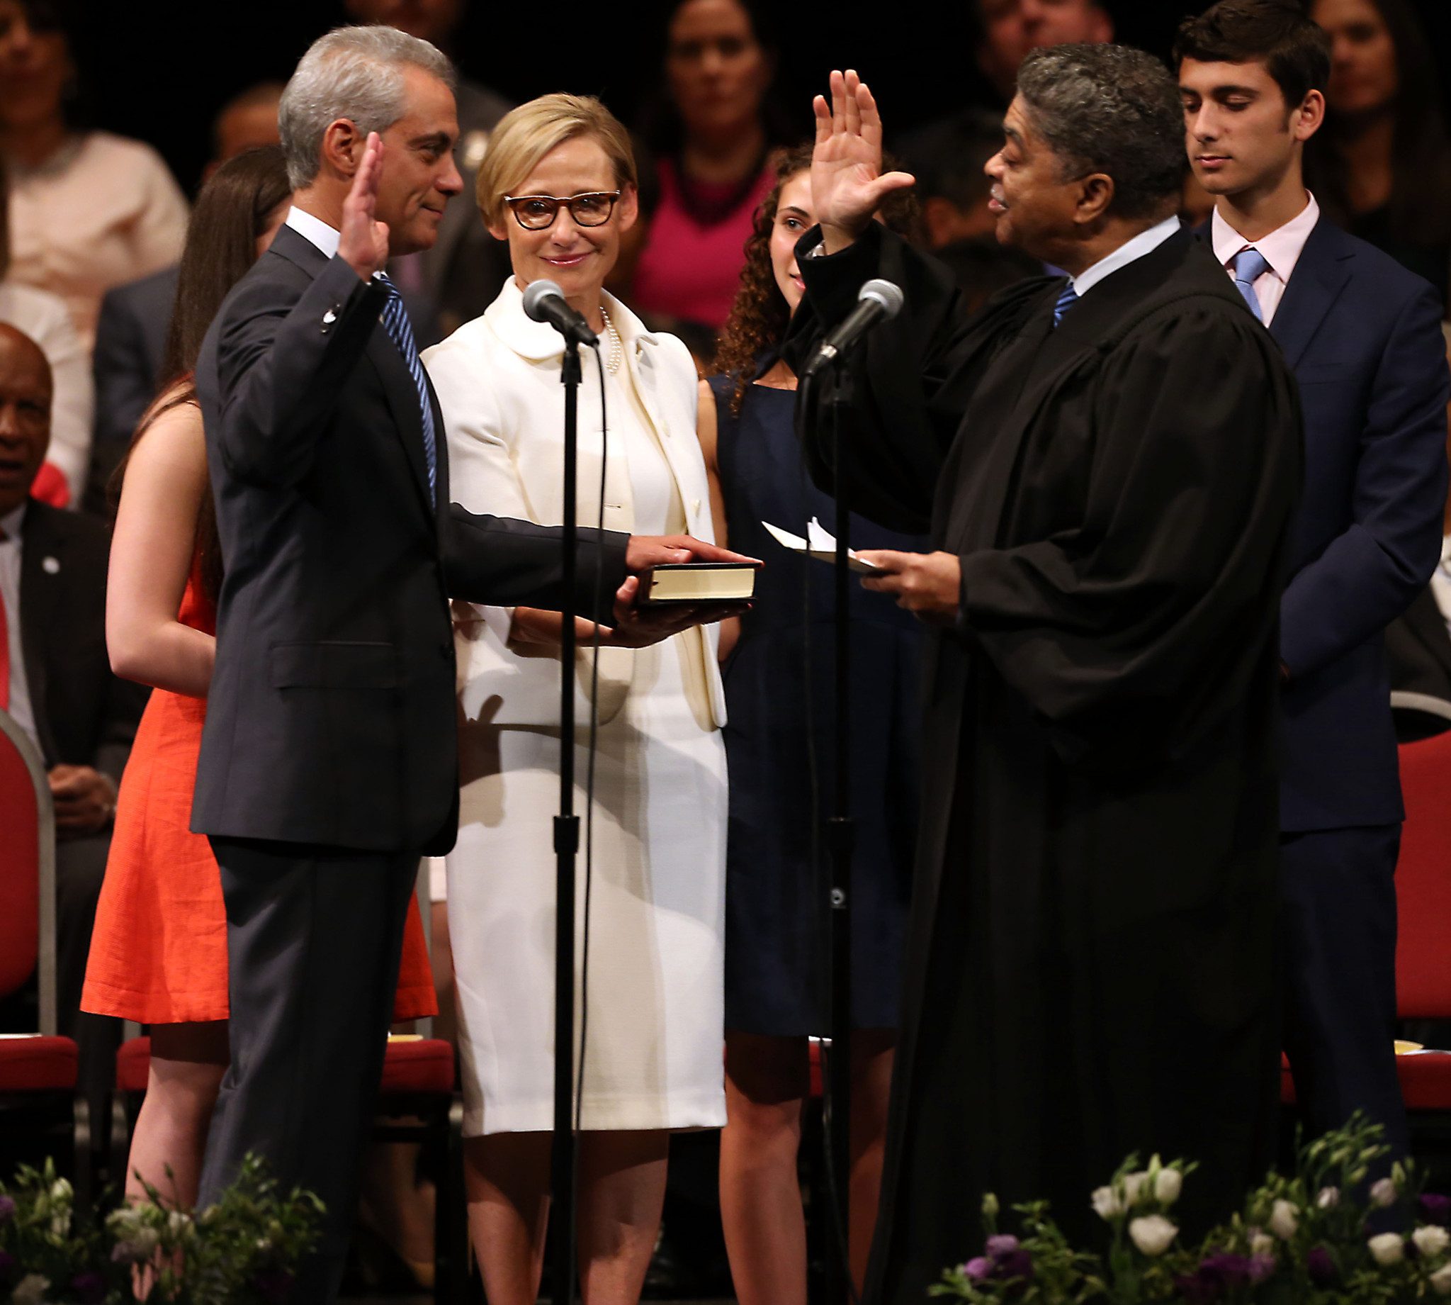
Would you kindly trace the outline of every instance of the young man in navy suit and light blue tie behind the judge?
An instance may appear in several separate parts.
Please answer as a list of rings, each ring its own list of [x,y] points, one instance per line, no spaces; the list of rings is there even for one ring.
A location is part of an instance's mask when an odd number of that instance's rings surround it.
[[[1175,44],[1200,235],[1284,350],[1304,496],[1280,608],[1284,1048],[1316,1132],[1357,1109],[1403,1153],[1393,1054],[1400,781],[1383,637],[1441,555],[1447,359],[1435,290],[1304,189],[1331,42],[1284,0],[1220,0]]]

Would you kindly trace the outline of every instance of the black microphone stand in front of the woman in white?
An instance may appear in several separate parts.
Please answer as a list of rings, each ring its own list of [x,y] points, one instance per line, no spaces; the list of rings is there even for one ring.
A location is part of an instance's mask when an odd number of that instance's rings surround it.
[[[575,573],[579,527],[575,521],[579,473],[579,341],[564,335],[564,601],[559,647],[559,814],[554,817],[554,1140],[550,1192],[554,1225],[554,1305],[575,1302]]]

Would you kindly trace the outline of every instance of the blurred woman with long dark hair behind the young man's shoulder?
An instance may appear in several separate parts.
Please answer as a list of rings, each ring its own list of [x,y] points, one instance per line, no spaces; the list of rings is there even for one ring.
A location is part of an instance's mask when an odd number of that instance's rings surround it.
[[[1407,0],[1315,0],[1331,33],[1325,129],[1306,181],[1352,235],[1423,276],[1447,303],[1451,142],[1435,58]]]

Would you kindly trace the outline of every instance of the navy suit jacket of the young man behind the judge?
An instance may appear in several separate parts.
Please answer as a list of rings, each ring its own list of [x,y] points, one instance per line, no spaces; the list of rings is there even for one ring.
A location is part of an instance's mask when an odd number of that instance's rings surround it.
[[[1280,827],[1393,825],[1405,810],[1384,633],[1441,559],[1441,299],[1320,218],[1270,334],[1304,409],[1304,492],[1280,605]]]

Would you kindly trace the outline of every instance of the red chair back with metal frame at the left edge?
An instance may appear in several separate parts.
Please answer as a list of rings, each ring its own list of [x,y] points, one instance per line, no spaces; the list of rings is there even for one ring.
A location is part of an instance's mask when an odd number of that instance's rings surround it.
[[[45,759],[0,711],[0,996],[39,981],[42,1034],[55,1032],[55,811]]]

